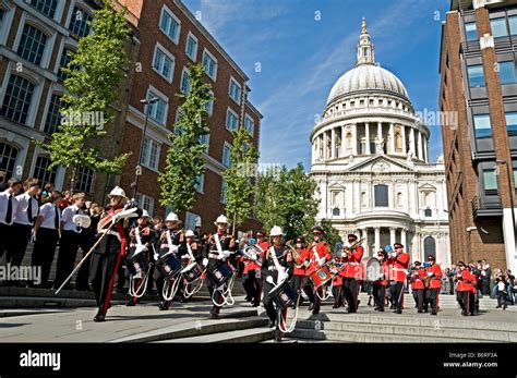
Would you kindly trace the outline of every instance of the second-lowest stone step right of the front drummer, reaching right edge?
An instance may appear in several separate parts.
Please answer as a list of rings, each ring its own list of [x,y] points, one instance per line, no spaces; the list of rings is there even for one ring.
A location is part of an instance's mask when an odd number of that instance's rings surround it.
[[[437,326],[437,327],[436,327]],[[416,327],[400,325],[375,325],[359,324],[346,321],[317,321],[317,320],[299,320],[297,329],[310,331],[333,331],[359,334],[376,334],[376,336],[399,336],[399,337],[419,337],[422,340],[442,339],[443,342],[449,340],[480,342],[517,342],[517,332],[495,331],[495,330],[476,330],[471,331],[465,327],[460,328],[442,328],[440,325],[435,327]]]

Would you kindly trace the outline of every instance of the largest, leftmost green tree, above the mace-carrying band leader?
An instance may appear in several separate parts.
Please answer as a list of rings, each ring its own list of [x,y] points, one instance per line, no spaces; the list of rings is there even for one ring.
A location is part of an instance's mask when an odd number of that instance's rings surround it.
[[[103,9],[94,11],[88,23],[92,33],[79,40],[77,51],[71,53],[72,60],[61,69],[68,75],[61,125],[49,144],[35,142],[48,151],[49,168],[58,164],[73,168],[72,188],[77,167],[119,173],[129,156],[123,154],[108,160],[96,143],[106,135],[106,125],[113,119],[109,107],[117,100],[118,86],[125,76],[121,68],[128,65],[131,31],[124,14],[125,10],[113,11],[109,0],[105,0]]]

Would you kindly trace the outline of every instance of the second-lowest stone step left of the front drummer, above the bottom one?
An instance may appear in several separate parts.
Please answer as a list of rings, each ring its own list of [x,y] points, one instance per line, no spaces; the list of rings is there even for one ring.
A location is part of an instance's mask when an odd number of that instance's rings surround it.
[[[124,337],[112,342],[157,342],[172,339],[187,339],[219,332],[258,328],[267,325],[267,319],[254,310],[236,310],[221,315],[220,319],[200,319],[165,327],[131,337]]]

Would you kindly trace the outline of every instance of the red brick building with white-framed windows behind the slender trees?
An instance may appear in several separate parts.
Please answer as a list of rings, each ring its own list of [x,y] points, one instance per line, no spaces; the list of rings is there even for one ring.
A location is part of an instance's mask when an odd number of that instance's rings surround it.
[[[167,212],[159,206],[157,179],[158,172],[166,166],[167,135],[173,131],[179,114],[180,102],[175,95],[188,90],[188,65],[203,63],[205,78],[212,85],[215,97],[208,106],[209,134],[203,141],[207,145],[205,173],[199,180],[201,184],[194,208],[181,218],[185,228],[193,228],[195,220],[201,219],[203,231],[209,231],[217,216],[225,212],[223,172],[229,164],[230,131],[244,126],[258,148],[262,115],[247,98],[249,77],[181,1],[120,2],[139,19],[141,44],[122,141],[122,150],[133,154],[120,184],[132,193],[134,167],[137,166],[147,112],[142,175],[136,196],[151,214],[164,216]],[[158,102],[154,105],[144,106],[141,102],[155,97]],[[250,221],[242,229],[257,227],[256,222]]]

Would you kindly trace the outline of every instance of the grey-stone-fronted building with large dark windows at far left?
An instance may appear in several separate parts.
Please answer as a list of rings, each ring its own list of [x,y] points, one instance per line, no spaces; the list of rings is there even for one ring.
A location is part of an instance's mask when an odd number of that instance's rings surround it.
[[[58,127],[65,78],[60,68],[70,60],[68,51],[75,50],[79,39],[89,33],[87,22],[99,7],[101,1],[93,0],[0,1],[0,170],[7,171],[8,179],[35,176],[43,184],[70,188],[72,170],[48,170],[48,155],[31,139],[48,142]],[[128,14],[128,21],[134,34],[136,19]],[[133,38],[128,46],[130,60],[139,48]],[[120,154],[132,80],[129,72],[119,101],[111,107],[115,120],[99,142],[104,158]],[[95,200],[104,202],[116,182],[116,176],[77,167],[75,190]]]

